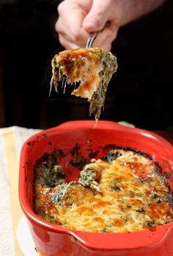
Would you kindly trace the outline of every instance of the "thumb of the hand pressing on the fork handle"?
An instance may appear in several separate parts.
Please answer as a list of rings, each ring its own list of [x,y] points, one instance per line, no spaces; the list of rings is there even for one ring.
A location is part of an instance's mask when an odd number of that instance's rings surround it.
[[[107,21],[111,21],[111,16],[110,0],[93,0],[92,8],[84,18],[82,26],[87,32],[97,32],[105,27]]]

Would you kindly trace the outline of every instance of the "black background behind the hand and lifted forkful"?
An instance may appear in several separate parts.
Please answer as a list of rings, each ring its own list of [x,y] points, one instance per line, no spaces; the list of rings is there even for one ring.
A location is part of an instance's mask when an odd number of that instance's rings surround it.
[[[51,59],[62,51],[54,31],[59,1],[0,0],[0,127],[50,128],[89,117],[87,100],[51,93]],[[172,0],[119,30],[118,71],[102,120],[147,130],[173,129]]]

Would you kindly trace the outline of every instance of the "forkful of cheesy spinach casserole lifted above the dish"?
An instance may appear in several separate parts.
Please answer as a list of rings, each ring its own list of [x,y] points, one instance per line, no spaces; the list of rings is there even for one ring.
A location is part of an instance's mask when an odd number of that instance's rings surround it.
[[[72,95],[87,98],[90,103],[89,114],[94,114],[95,120],[98,120],[108,83],[117,71],[116,56],[97,47],[77,48],[59,52],[52,59],[51,65],[51,87],[54,84],[58,91],[59,81],[62,81],[65,92],[66,83],[75,84]],[[79,83],[78,88],[76,83]]]

